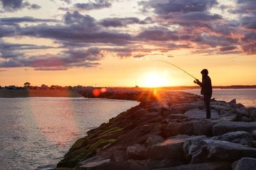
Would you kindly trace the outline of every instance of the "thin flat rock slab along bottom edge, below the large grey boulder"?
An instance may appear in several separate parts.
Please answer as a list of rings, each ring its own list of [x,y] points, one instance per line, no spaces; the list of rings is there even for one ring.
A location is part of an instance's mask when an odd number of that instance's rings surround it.
[[[186,164],[175,167],[166,167],[154,170],[223,170],[231,169],[229,162],[207,162],[202,164]]]

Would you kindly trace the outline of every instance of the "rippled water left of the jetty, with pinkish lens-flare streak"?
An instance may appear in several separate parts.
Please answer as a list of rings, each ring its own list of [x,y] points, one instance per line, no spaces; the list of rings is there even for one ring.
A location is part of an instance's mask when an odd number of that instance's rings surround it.
[[[50,169],[76,139],[136,101],[0,98],[0,169]]]

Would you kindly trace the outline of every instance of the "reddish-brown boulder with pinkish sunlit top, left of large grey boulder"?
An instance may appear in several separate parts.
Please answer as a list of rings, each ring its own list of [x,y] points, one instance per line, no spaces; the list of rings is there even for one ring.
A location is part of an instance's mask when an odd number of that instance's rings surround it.
[[[158,143],[148,147],[148,159],[177,159],[184,160],[183,144],[189,136],[178,135],[173,138],[166,139],[163,143]]]

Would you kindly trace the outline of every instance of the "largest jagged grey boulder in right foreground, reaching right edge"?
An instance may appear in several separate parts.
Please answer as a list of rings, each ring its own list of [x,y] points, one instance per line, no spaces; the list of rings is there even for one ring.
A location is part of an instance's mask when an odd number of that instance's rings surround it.
[[[184,143],[184,145],[188,145],[188,142]],[[192,147],[192,149],[189,145],[184,147],[186,148],[186,150],[184,150],[186,155],[191,157],[191,163],[213,161],[232,162],[242,157],[256,157],[255,148],[230,143],[228,141],[204,139],[196,143],[196,145],[192,145]]]

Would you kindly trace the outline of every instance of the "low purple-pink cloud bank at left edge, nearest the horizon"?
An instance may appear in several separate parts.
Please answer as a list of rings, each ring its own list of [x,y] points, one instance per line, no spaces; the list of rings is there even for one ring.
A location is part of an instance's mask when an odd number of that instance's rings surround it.
[[[36,70],[63,70],[71,67],[96,67],[104,57],[100,48],[72,49],[56,55],[17,57],[0,61],[0,67],[34,67]]]

